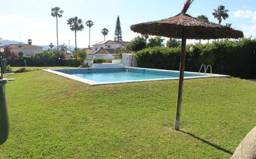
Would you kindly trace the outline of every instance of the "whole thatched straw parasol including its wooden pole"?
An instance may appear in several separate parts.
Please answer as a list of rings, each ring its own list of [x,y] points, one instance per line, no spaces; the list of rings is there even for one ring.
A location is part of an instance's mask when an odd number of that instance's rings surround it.
[[[152,22],[131,25],[130,29],[142,35],[157,35],[168,38],[181,38],[180,77],[178,101],[175,118],[175,130],[180,129],[181,101],[183,93],[183,79],[185,70],[186,39],[217,39],[242,38],[243,32],[224,25],[206,22],[186,14],[194,0],[187,0],[180,14]]]

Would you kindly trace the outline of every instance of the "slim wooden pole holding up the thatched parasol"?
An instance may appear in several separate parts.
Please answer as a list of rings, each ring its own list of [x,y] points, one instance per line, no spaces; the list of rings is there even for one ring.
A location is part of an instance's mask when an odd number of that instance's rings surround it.
[[[184,80],[184,71],[185,71],[185,53],[186,53],[186,37],[185,37],[185,29],[182,28],[181,55],[180,55],[180,78],[179,78],[179,90],[178,90],[176,118],[175,118],[175,125],[174,125],[174,129],[176,131],[178,131],[180,129],[181,101],[182,101],[183,80]]]

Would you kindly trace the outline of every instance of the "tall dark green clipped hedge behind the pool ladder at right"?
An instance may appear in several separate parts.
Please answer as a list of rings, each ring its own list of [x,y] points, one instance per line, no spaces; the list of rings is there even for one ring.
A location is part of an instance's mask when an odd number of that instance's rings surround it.
[[[190,47],[193,50],[190,51]],[[220,41],[186,47],[185,71],[198,72],[201,64],[211,65],[213,73],[256,79],[256,40]],[[137,51],[139,67],[179,70],[181,48],[155,47]]]

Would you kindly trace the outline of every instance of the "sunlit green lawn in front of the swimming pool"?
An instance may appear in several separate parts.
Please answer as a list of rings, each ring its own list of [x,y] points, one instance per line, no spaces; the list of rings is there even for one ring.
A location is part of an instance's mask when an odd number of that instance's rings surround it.
[[[230,158],[256,125],[256,82],[185,80],[91,87],[43,71],[6,75],[10,135],[0,158]]]

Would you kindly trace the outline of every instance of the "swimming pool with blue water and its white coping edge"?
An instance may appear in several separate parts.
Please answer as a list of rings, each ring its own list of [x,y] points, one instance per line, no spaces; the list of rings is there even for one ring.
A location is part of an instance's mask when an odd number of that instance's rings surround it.
[[[119,84],[152,80],[176,80],[179,78],[179,71],[138,67],[46,69],[44,71],[62,75],[89,85]],[[197,79],[206,77],[229,77],[229,75],[185,72],[184,77],[184,79]]]

